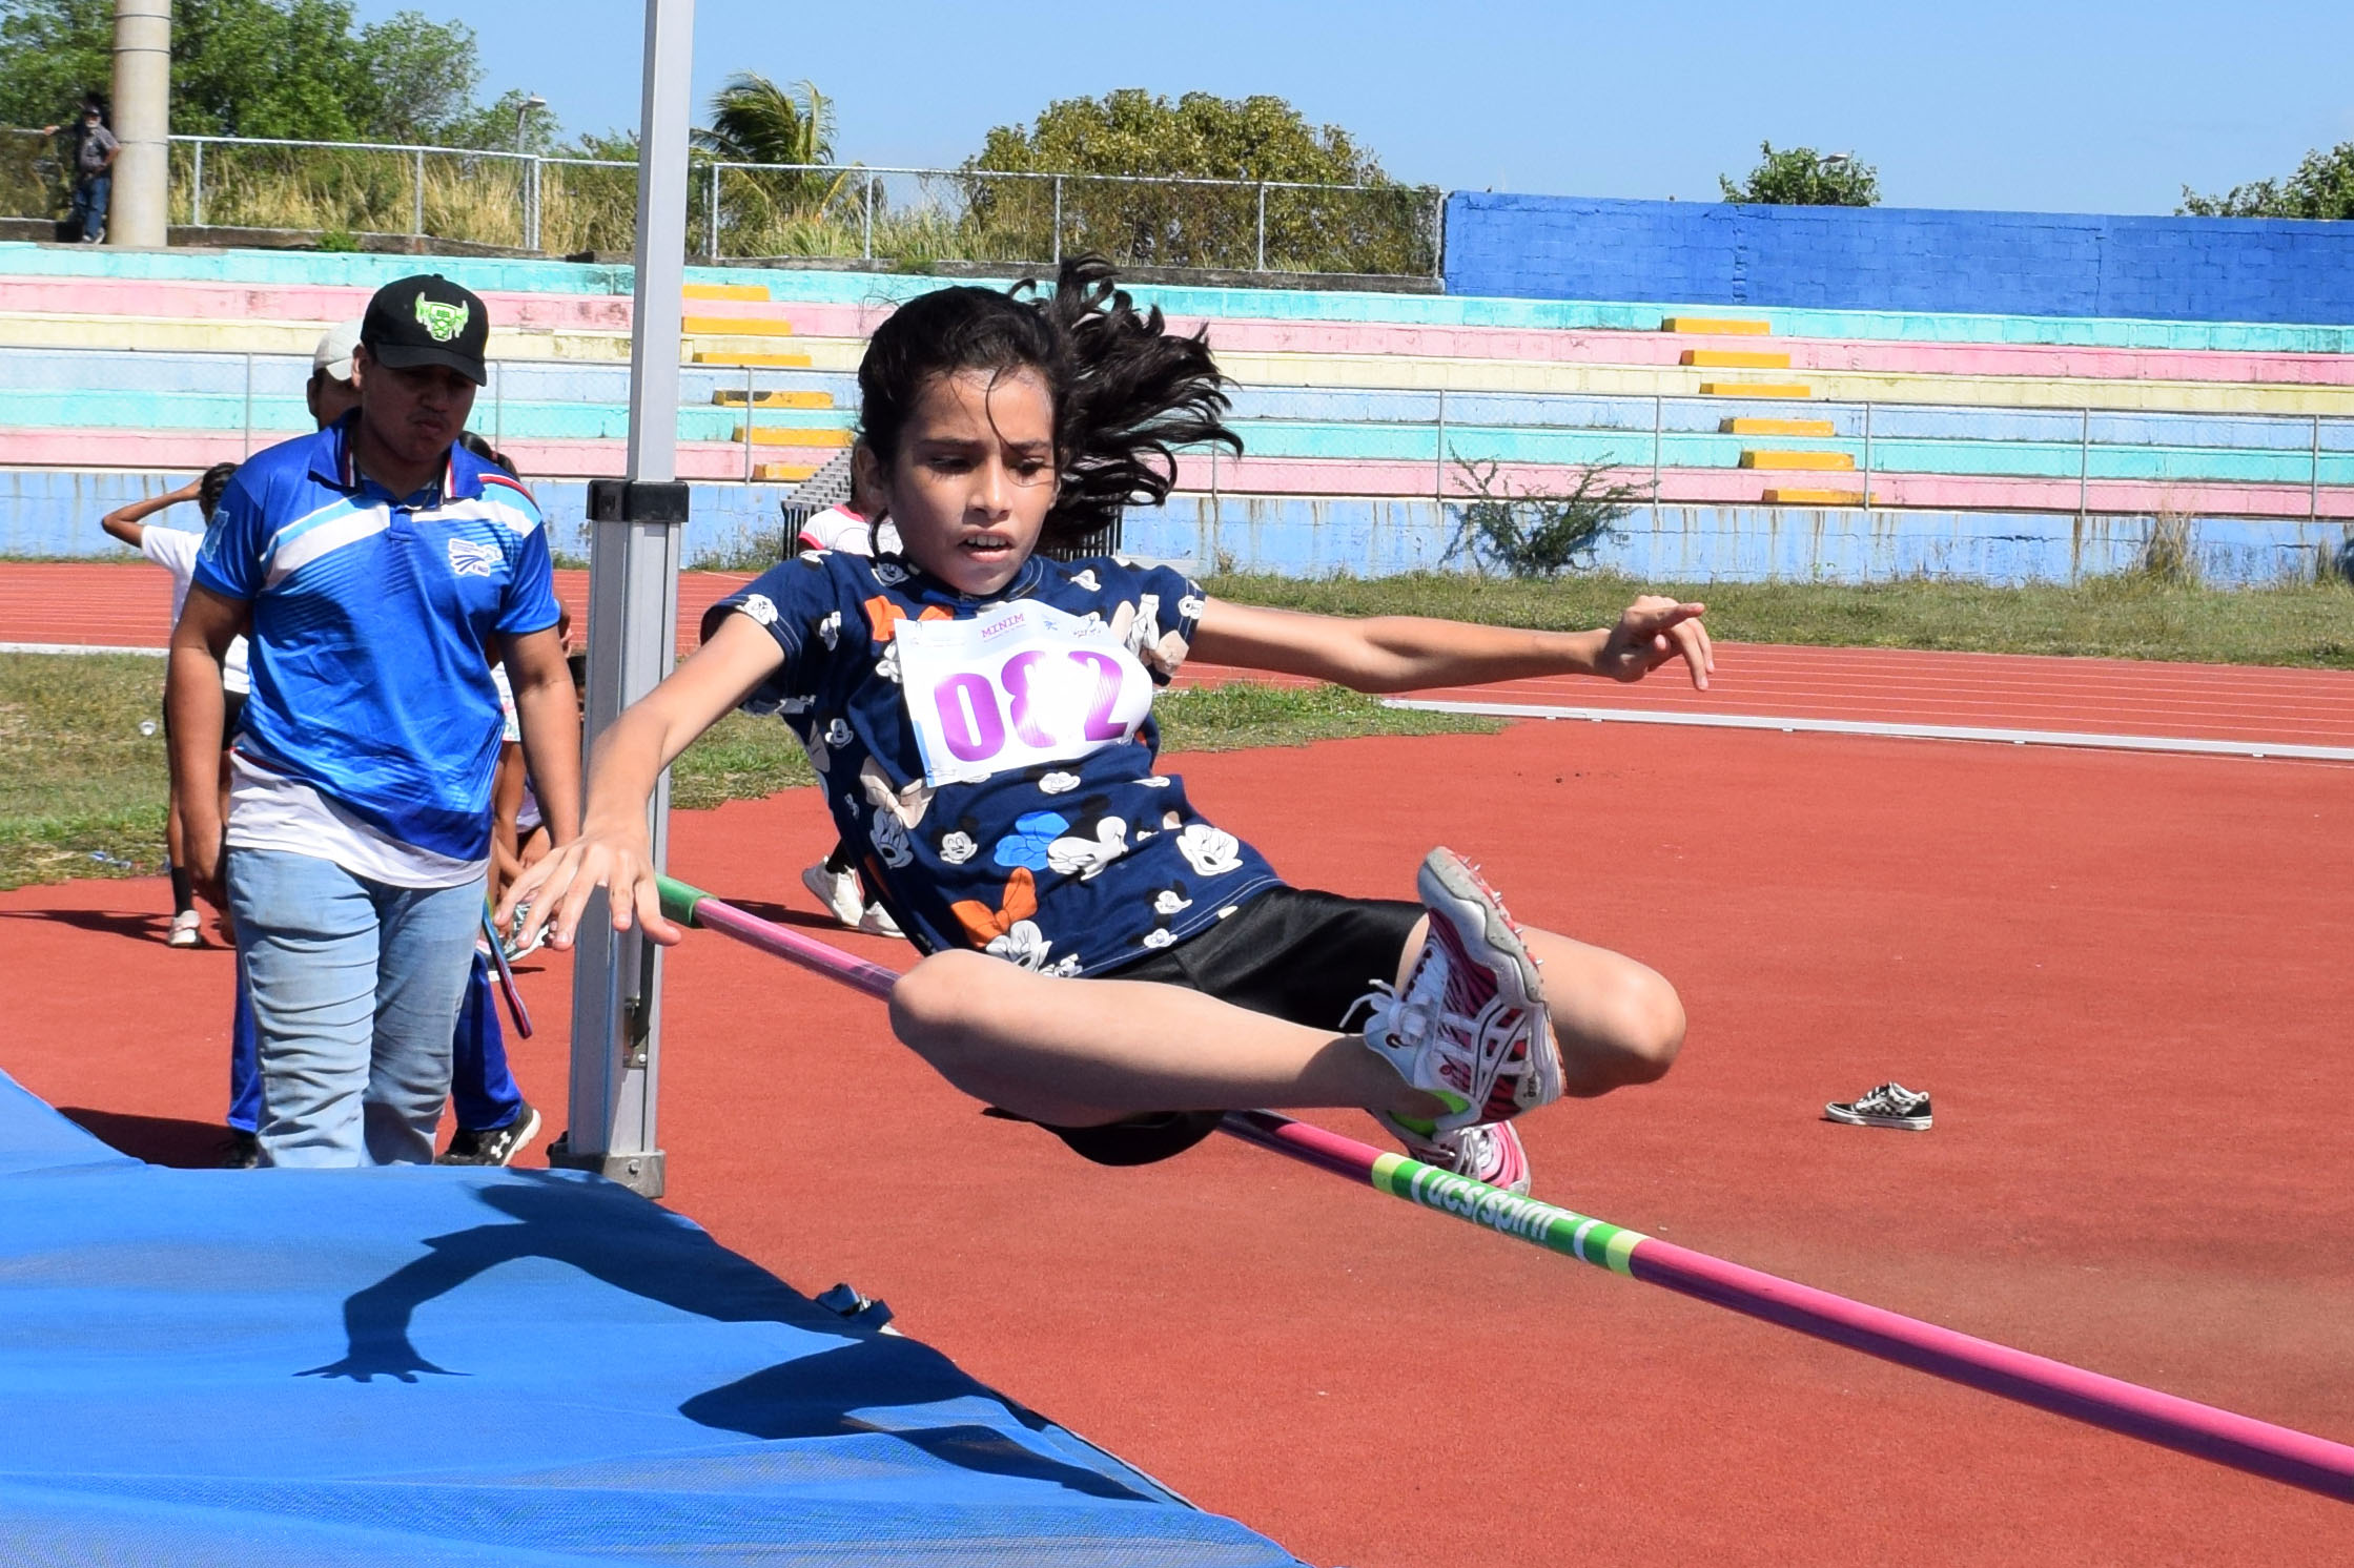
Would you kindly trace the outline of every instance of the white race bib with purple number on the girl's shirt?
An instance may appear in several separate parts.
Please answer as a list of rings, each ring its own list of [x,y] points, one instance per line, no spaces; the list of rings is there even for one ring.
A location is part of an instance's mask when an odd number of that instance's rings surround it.
[[[1130,739],[1153,678],[1106,626],[1031,600],[899,622],[899,680],[927,784],[1066,763]]]

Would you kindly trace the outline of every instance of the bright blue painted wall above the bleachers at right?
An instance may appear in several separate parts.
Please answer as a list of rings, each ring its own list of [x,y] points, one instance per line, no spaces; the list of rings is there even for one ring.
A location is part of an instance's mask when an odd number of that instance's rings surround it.
[[[1448,292],[2354,323],[2354,224],[1457,191]]]

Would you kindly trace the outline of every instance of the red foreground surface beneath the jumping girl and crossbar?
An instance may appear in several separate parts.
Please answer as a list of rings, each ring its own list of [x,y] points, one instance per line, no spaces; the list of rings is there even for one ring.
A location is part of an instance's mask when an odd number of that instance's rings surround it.
[[[2354,1439],[2342,770],[1636,725],[1175,765],[1295,881],[1403,895],[1452,843],[1523,918],[1678,984],[1693,1031],[1664,1083],[1525,1123],[1540,1196]],[[680,876],[751,906],[807,906],[798,869],[829,845],[810,791],[673,826]],[[0,1067],[200,1158],[228,956],[167,951],[165,909],[155,881],[0,895]],[[523,986],[541,1034],[516,1071],[556,1109],[563,961]],[[1930,1088],[1935,1132],[1817,1118],[1881,1078]],[[1309,1561],[2354,1561],[2342,1504],[1231,1140],[1083,1165],[982,1118],[871,1001],[718,937],[669,968],[661,1114],[669,1201],[720,1241],[803,1290],[887,1297]]]

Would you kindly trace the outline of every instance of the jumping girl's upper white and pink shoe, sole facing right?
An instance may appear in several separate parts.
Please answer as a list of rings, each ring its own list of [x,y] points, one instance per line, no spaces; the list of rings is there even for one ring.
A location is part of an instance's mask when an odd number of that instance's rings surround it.
[[[1452,850],[1431,850],[1417,888],[1431,935],[1403,989],[1377,982],[1363,998],[1372,1010],[1365,1045],[1448,1107],[1429,1128],[1382,1118],[1401,1137],[1436,1144],[1561,1099],[1561,1050],[1537,961],[1478,871]]]

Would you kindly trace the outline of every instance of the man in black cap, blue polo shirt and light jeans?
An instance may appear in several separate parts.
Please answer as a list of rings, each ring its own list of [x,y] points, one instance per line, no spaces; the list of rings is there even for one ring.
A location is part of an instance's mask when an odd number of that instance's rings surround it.
[[[228,822],[186,822],[226,873],[261,1043],[261,1163],[433,1158],[450,1031],[490,864],[499,695],[551,833],[579,824],[579,711],[530,492],[457,445],[485,379],[483,301],[445,278],[377,292],[360,405],[238,469],[172,633],[172,768],[219,756],[214,664],[245,631],[252,697]]]

